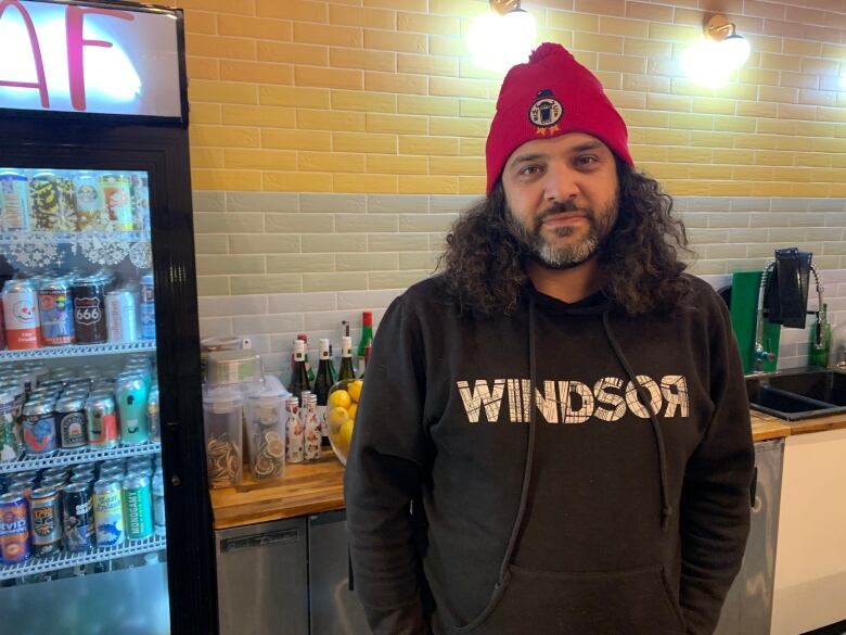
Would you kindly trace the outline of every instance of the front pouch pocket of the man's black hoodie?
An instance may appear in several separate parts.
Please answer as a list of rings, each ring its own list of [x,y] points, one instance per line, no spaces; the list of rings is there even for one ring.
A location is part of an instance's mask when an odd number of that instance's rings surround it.
[[[661,566],[598,573],[511,566],[490,606],[454,635],[681,635]]]

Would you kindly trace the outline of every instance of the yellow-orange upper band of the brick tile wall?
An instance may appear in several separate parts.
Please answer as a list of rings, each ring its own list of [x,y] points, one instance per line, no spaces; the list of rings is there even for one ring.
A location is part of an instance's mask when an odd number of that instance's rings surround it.
[[[309,174],[300,191],[310,183],[319,188],[315,191],[358,192],[364,181],[347,176],[355,164],[369,176],[407,175],[385,179],[380,191],[393,183],[395,193],[418,193],[426,183],[435,188],[428,193],[454,192],[459,179],[478,176],[479,162],[444,160],[454,156],[464,142],[486,135],[501,80],[500,75],[479,69],[465,46],[470,24],[488,11],[487,4],[487,0],[182,0],[194,187],[227,189],[242,183],[253,189],[272,183],[278,190],[291,179],[275,173],[312,173],[319,167],[323,178],[313,180]],[[736,13],[728,16],[749,39],[753,55],[721,89],[697,87],[680,71],[680,53],[698,36],[705,16],[695,4],[523,2],[543,36],[569,46],[599,73],[612,100],[624,110],[632,138],[644,135],[644,142],[633,149],[637,162],[670,174],[672,168],[665,163],[672,163],[671,155],[666,162],[655,161],[655,144],[674,151],[778,149],[783,153],[778,165],[810,168],[754,177],[757,173],[742,169],[753,165],[747,154],[732,160],[725,153],[712,154],[707,163],[741,169],[728,179],[719,178],[723,170],[714,170],[707,183],[701,174],[687,172],[672,179],[671,193],[719,195],[729,180],[745,182],[755,195],[778,195],[785,179],[798,183],[807,178],[819,183],[821,195],[833,193],[836,179],[813,168],[831,166],[830,155],[846,153],[843,2],[818,0],[813,9],[805,8],[803,0],[731,4],[728,9]],[[779,139],[785,136],[791,141]],[[257,152],[221,156],[218,148]],[[462,155],[483,157],[484,144],[466,148]],[[802,165],[790,152],[798,148],[804,150]],[[289,153],[267,152],[279,150],[293,153],[293,162]],[[316,163],[308,154],[316,151],[334,156]],[[385,158],[390,154],[396,161]],[[416,161],[423,155],[434,161]],[[843,162],[835,163],[837,167],[830,169],[846,181],[846,170],[836,172],[844,169]],[[454,169],[449,175],[453,178],[444,178],[445,166]],[[233,169],[242,172],[229,174]],[[736,191],[738,183],[731,185]]]

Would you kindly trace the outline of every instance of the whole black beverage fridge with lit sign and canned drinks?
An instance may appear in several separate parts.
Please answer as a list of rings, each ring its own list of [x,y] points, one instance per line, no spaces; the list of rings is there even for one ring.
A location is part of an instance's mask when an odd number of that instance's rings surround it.
[[[216,630],[183,40],[0,0],[4,633]]]

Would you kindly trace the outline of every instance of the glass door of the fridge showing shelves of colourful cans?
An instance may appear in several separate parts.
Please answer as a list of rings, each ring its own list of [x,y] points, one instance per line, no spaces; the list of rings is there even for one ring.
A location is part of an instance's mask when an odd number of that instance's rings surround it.
[[[170,632],[149,176],[0,166],[9,633]]]

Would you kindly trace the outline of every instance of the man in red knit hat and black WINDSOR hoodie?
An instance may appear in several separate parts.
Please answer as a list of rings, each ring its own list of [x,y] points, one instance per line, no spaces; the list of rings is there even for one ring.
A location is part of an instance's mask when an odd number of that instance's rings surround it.
[[[726,307],[559,45],[505,77],[487,170],[368,365],[346,504],[370,625],[710,634],[754,457]]]

